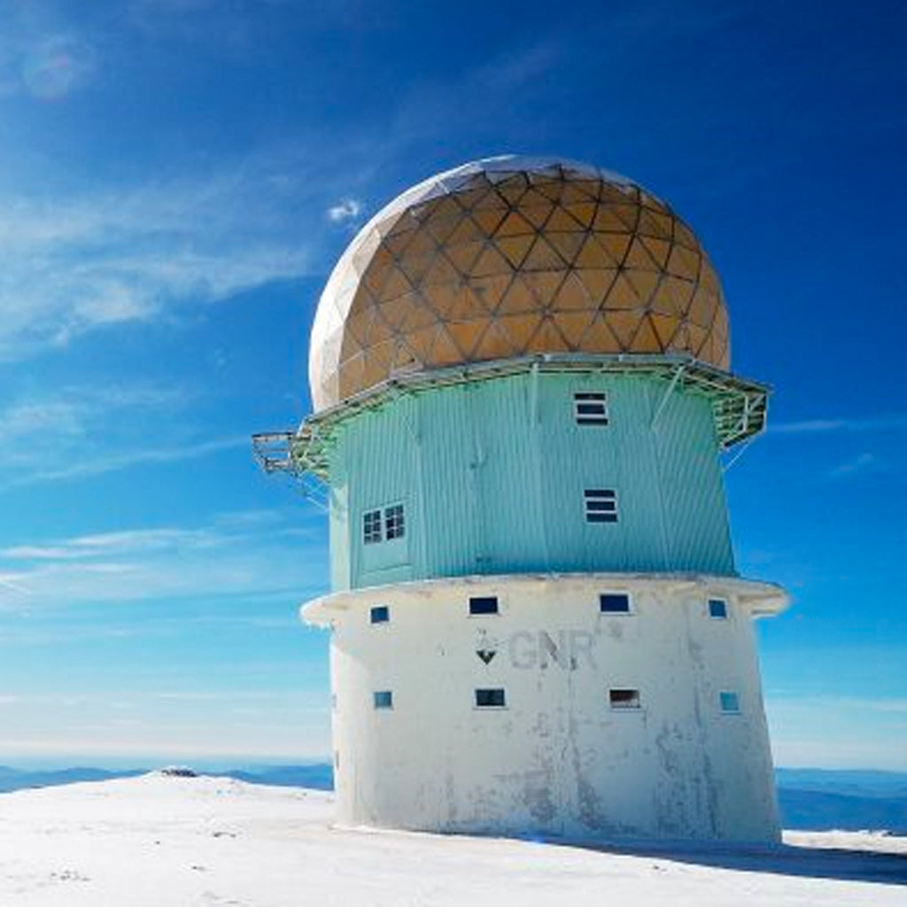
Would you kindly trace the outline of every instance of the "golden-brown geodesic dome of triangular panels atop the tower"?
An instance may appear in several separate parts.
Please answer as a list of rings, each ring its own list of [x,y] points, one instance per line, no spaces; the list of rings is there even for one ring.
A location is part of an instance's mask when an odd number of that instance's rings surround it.
[[[688,225],[631,180],[478,161],[406,191],[346,249],[312,331],[313,404],[540,354],[680,354],[727,370],[717,273]]]

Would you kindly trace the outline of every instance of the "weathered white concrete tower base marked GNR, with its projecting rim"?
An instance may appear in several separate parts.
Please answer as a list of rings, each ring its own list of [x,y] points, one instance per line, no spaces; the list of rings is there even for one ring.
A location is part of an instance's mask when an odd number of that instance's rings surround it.
[[[631,612],[601,613],[603,592],[628,592]],[[471,596],[497,596],[500,612],[470,616]],[[430,580],[310,602],[304,618],[333,630],[337,820],[778,841],[751,619],[785,605],[766,583],[669,574]],[[375,606],[388,622],[370,622]],[[476,707],[480,688],[503,689],[505,706]],[[639,707],[614,707],[612,689],[638,690]]]

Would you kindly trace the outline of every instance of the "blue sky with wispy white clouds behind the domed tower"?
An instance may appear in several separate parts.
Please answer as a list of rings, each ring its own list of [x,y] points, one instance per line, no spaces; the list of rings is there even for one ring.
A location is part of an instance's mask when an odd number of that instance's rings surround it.
[[[508,151],[669,200],[775,386],[727,473],[776,761],[907,769],[900,5],[0,0],[0,761],[325,756],[309,408],[356,227]]]

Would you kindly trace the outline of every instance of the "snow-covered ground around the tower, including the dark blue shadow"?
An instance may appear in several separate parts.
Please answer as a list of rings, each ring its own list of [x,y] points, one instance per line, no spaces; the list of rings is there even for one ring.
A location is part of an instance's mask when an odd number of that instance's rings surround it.
[[[907,839],[594,850],[335,829],[332,795],[143,775],[0,795],[2,907],[907,907]]]

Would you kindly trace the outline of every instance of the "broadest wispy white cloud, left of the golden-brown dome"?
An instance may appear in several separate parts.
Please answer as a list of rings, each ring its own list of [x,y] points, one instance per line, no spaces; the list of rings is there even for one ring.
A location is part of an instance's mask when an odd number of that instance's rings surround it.
[[[332,179],[308,179],[296,159],[262,152],[209,176],[0,196],[0,360],[317,271],[317,240],[300,238],[317,237]]]

